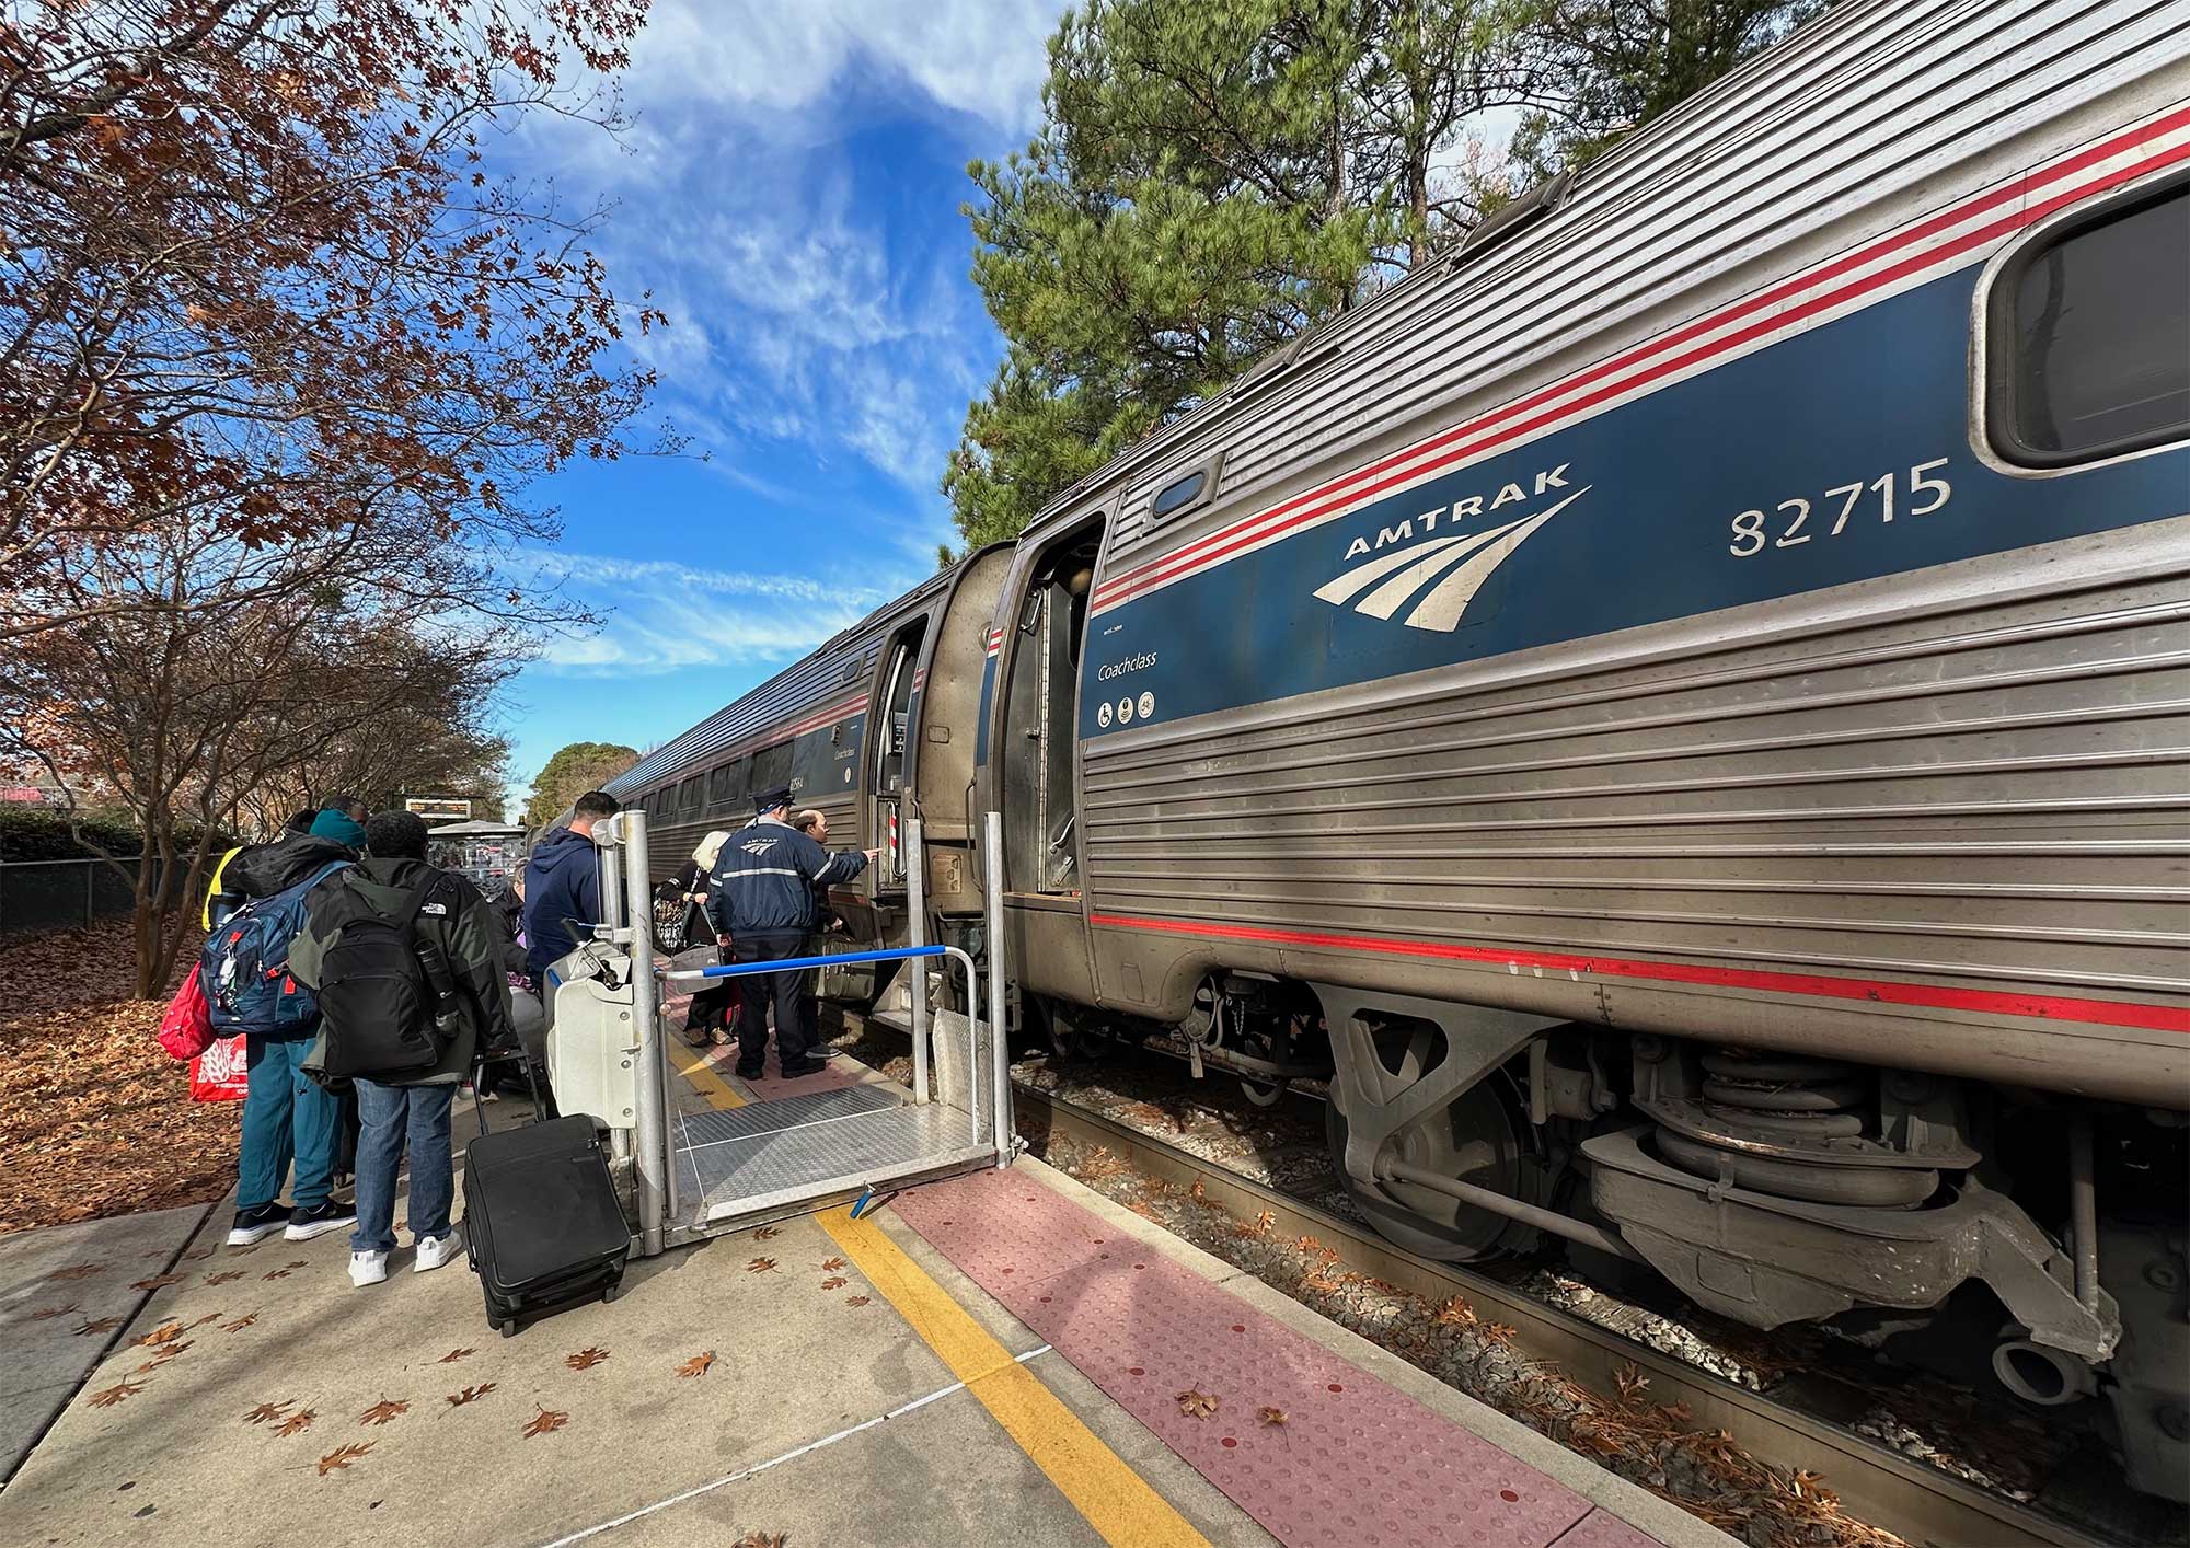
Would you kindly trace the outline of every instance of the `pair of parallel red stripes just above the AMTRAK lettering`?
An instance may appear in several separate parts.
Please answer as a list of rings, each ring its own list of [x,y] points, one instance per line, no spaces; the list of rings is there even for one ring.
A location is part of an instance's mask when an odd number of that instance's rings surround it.
[[[1759,291],[1756,296],[1750,296],[1750,298],[1745,298],[1741,302],[1734,302],[1732,307],[1726,307],[1726,309],[1713,313],[1710,317],[1693,322],[1693,324],[1688,324],[1684,328],[1678,328],[1678,331],[1673,331],[1673,333],[1669,333],[1664,337],[1651,339],[1649,344],[1640,344],[1640,346],[1627,350],[1625,355],[1616,355],[1616,357],[1612,357],[1607,361],[1601,361],[1599,366],[1592,366],[1592,368],[1588,368],[1588,370],[1583,370],[1583,372],[1579,372],[1579,374],[1575,374],[1575,377],[1570,377],[1566,381],[1555,381],[1548,388],[1542,388],[1540,392],[1533,392],[1533,394],[1529,394],[1524,398],[1515,398],[1513,403],[1507,403],[1505,407],[1498,407],[1498,409],[1491,409],[1489,414],[1472,418],[1465,425],[1454,425],[1452,429],[1448,429],[1448,431],[1443,431],[1439,436],[1432,436],[1432,438],[1428,438],[1428,440],[1424,440],[1424,442],[1419,442],[1415,447],[1408,447],[1406,451],[1395,451],[1393,455],[1388,455],[1388,458],[1384,458],[1380,462],[1371,462],[1364,469],[1356,469],[1353,473],[1345,473],[1345,475],[1340,475],[1336,480],[1329,480],[1327,484],[1323,484],[1318,488],[1312,488],[1312,490],[1307,490],[1303,495],[1294,495],[1292,499],[1281,501],[1277,506],[1270,506],[1268,510],[1261,510],[1261,512],[1248,517],[1246,521],[1237,521],[1237,523],[1233,523],[1229,528],[1211,532],[1209,536],[1198,539],[1196,543],[1187,543],[1185,547],[1178,547],[1178,550],[1174,550],[1169,554],[1159,554],[1156,558],[1143,561],[1143,563],[1139,563],[1139,565],[1134,565],[1134,567],[1130,567],[1130,569],[1126,569],[1126,571],[1121,571],[1117,576],[1113,576],[1104,585],[1099,585],[1095,589],[1095,602],[1093,604],[1095,604],[1095,609],[1110,609],[1110,607],[1119,607],[1123,602],[1132,602],[1134,598],[1139,598],[1139,596],[1143,596],[1148,591],[1154,591],[1156,587],[1161,587],[1161,585],[1165,585],[1169,580],[1180,580],[1187,574],[1194,574],[1194,571],[1198,571],[1202,567],[1215,565],[1218,561],[1226,558],[1229,554],[1233,554],[1240,547],[1248,547],[1253,543],[1261,543],[1264,539],[1275,539],[1275,536],[1281,536],[1286,532],[1292,532],[1294,528],[1305,525],[1305,523],[1314,521],[1316,517],[1329,515],[1329,512],[1334,512],[1334,510],[1338,510],[1338,508],[1342,508],[1342,506],[1347,506],[1347,504],[1351,504],[1356,499],[1367,499],[1369,495],[1378,495],[1378,493],[1391,488],[1393,484],[1404,484],[1408,480],[1415,480],[1415,477],[1419,477],[1424,473],[1430,473],[1434,469],[1441,469],[1441,466],[1445,466],[1445,464],[1450,464],[1450,462],[1454,462],[1454,460],[1459,460],[1463,455],[1472,455],[1476,451],[1489,451],[1489,449],[1494,449],[1494,447],[1498,447],[1498,444],[1502,444],[1507,440],[1513,440],[1518,436],[1529,434],[1531,429],[1542,429],[1544,425],[1553,425],[1553,423],[1566,418],[1568,414],[1577,414],[1581,409],[1594,407],[1594,405],[1603,403],[1605,398],[1614,398],[1614,396],[1618,396],[1623,392],[1634,392],[1636,388],[1649,385],[1651,381],[1658,381],[1660,377],[1667,377],[1671,372],[1678,372],[1678,370],[1684,370],[1688,366],[1695,366],[1695,363],[1699,363],[1704,359],[1710,359],[1713,355],[1724,355],[1726,350],[1739,348],[1739,346],[1743,346],[1743,344],[1748,344],[1748,342],[1752,342],[1752,339],[1756,339],[1756,337],[1761,337],[1765,333],[1774,333],[1774,331],[1778,331],[1778,328],[1783,328],[1783,326],[1787,326],[1791,322],[1800,322],[1802,317],[1809,317],[1809,315],[1813,315],[1818,311],[1829,311],[1831,307],[1840,307],[1840,304],[1844,304],[1844,302],[1848,302],[1848,300],[1853,300],[1853,298],[1857,298],[1857,296],[1862,296],[1866,291],[1879,289],[1883,285],[1892,285],[1894,280],[1905,278],[1907,274],[1916,274],[1916,272],[1921,272],[1921,269],[1925,269],[1925,267],[1929,267],[1934,263],[1940,263],[1945,258],[1962,254],[1962,252],[1967,252],[1973,245],[1982,245],[1986,241],[1993,241],[1995,236],[2004,236],[2004,234],[2017,232],[2017,230],[2021,230],[2026,226],[2035,226],[2037,221],[2045,219],[2048,215],[2052,215],[2054,210],[2059,210],[2059,208],[2063,208],[2067,204],[2074,204],[2076,199],[2087,199],[2094,193],[2105,193],[2107,188],[2113,188],[2113,186],[2120,186],[2120,184],[2131,182],[2135,177],[2142,177],[2144,173],[2157,171],[2157,169],[2168,166],[2168,164],[2179,162],[2179,160],[2186,160],[2186,158],[2190,158],[2190,147],[2175,147],[2175,149],[2168,149],[2168,151],[2159,151],[2157,155],[2151,155],[2151,158],[2146,158],[2146,160],[2142,160],[2142,162],[2137,162],[2133,166],[2116,169],[2111,173],[2105,173],[2102,177],[2096,177],[2096,180],[2091,180],[2087,184],[2080,184],[2078,188],[2052,195],[2052,197],[2048,197],[2048,199],[2043,199],[2039,204],[2026,206],[2026,208],[2021,208],[2021,210],[2017,210],[2017,212],[2013,212],[2013,215],[2008,215],[2004,219],[1991,221],[1991,223],[1982,226],[1975,232],[1964,232],[1962,236],[1958,236],[1951,243],[1945,243],[1943,247],[1929,247],[1929,250],[1925,250],[1921,254],[1914,254],[1912,258],[1903,258],[1901,263],[1897,263],[1897,265],[1892,265],[1888,269],[1879,269],[1877,274],[1864,276],[1862,280],[1855,280],[1853,285],[1844,285],[1844,287],[1840,287],[1840,289],[1835,289],[1835,291],[1831,291],[1826,296],[1813,298],[1811,302],[1805,302],[1802,307],[1796,307],[1796,309],[1785,311],[1785,313],[1774,313],[1774,315],[1765,317],[1763,322],[1756,322],[1756,324],[1750,324],[1748,328],[1741,328],[1739,333],[1730,333],[1730,335],[1726,335],[1721,339],[1713,339],[1710,344],[1704,344],[1702,348],[1688,350],[1686,355],[1678,355],[1673,359],[1660,361],[1660,363],[1651,366],[1649,370],[1636,372],[1636,374],[1632,374],[1632,377],[1627,377],[1627,379],[1623,379],[1623,381],[1618,381],[1618,383],[1614,383],[1610,388],[1601,388],[1597,392],[1590,392],[1588,396],[1575,398],[1570,403],[1561,403],[1559,407],[1551,409],[1548,414],[1537,414],[1535,418],[1522,420],[1518,425],[1509,425],[1507,429],[1498,431],[1496,436],[1485,436],[1480,440],[1454,447],[1452,451],[1448,451],[1441,458],[1430,458],[1426,462],[1415,462],[1417,458],[1424,458],[1424,453],[1428,453],[1428,451],[1437,451],[1439,447],[1452,447],[1456,440],[1461,440],[1461,438],[1465,438],[1469,434],[1487,431],[1489,427],[1500,425],[1502,420],[1509,420],[1515,414],[1526,414],[1529,409],[1533,409],[1533,407],[1537,407],[1542,403],[1548,403],[1553,398],[1566,396],[1575,388],[1588,385],[1592,381],[1601,381],[1601,379],[1605,379],[1610,374],[1618,374],[1627,366],[1645,361],[1651,355],[1662,355],[1664,350],[1675,348],[1680,344],[1686,344],[1686,342],[1691,342],[1695,337],[1702,337],[1702,335],[1710,333],[1713,328],[1721,328],[1721,326],[1726,326],[1728,322],[1732,322],[1737,317],[1745,317],[1745,315],[1750,315],[1750,313],[1754,313],[1754,311],[1759,311],[1763,307],[1772,307],[1772,304],[1776,304],[1776,302],[1780,302],[1780,300],[1785,300],[1789,296],[1796,296],[1796,293],[1800,293],[1805,289],[1811,289],[1813,285],[1820,285],[1824,280],[1840,278],[1842,274],[1848,274],[1851,269],[1857,269],[1857,267],[1862,267],[1866,263],[1872,263],[1872,261],[1886,256],[1888,252],[1894,252],[1897,247],[1905,247],[1905,245],[1923,241],[1923,239],[1927,239],[1927,236],[1932,236],[1932,234],[1936,234],[1940,230],[1958,226],[1960,221],[1967,221],[1971,215],[1980,215],[1982,210],[1993,208],[1993,206],[2004,204],[2004,201],[2028,197],[2032,188],[2043,186],[2043,184],[2048,184],[2048,182],[2052,182],[2052,180],[2056,180],[2056,177],[2061,177],[2065,173],[2083,171],[2085,166],[2089,166],[2094,162],[2102,162],[2109,155],[2118,155],[2122,149],[2126,149],[2129,145],[2135,145],[2137,140],[2151,140],[2151,138],[2157,138],[2157,136],[2164,136],[2164,134],[2172,134],[2175,129],[2181,129],[2186,125],[2190,125],[2190,107],[2177,109],[2177,112],[2172,112],[2172,114],[2168,114],[2168,116],[2164,116],[2164,118],[2159,118],[2155,123],[2142,125],[2142,127],[2131,129],[2126,134],[2120,134],[2120,136],[2116,136],[2116,138],[2111,138],[2111,140],[2107,140],[2102,145],[2096,145],[2096,147],[2091,147],[2087,151],[2080,151],[2078,155],[2067,158],[2059,166],[2050,166],[2050,169],[2039,171],[2039,173],[2026,173],[2021,177],[2015,177],[2015,180],[2002,184],[1999,188],[1993,188],[1991,193],[1978,195],[1975,199],[1967,199],[1964,204],[1960,204],[1960,206],[1956,206],[1951,210],[1945,210],[1943,215],[1934,215],[1934,217],[1929,217],[1925,221],[1918,221],[1916,226],[1910,226],[1903,232],[1894,232],[1892,236],[1883,236],[1883,239],[1870,243],[1868,247],[1859,247],[1857,252],[1844,254],[1844,256],[1840,256],[1840,258],[1835,258],[1835,261],[1831,261],[1831,263],[1826,263],[1826,265],[1822,265],[1818,269],[1811,269],[1811,272],[1800,274],[1800,276],[1796,276],[1791,280],[1785,280],[1785,282],[1780,282],[1780,285],[1776,285],[1776,287],[1772,287],[1767,291]],[[1384,477],[1384,480],[1378,480],[1373,484],[1362,484],[1362,480],[1371,480],[1378,473],[1384,473],[1386,469],[1395,469],[1395,466],[1406,464],[1406,462],[1413,462],[1413,466],[1404,466],[1399,473],[1395,473],[1391,477]],[[1316,504],[1316,501],[1323,501],[1323,504]],[[1303,510],[1303,506],[1312,506],[1312,508]],[[1288,512],[1292,512],[1292,515],[1288,515]],[[1277,517],[1286,517],[1286,519],[1279,521]]]

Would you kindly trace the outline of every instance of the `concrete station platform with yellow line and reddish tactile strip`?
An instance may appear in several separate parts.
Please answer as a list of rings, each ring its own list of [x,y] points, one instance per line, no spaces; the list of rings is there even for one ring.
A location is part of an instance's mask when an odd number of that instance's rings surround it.
[[[887,1086],[729,1058],[675,1051],[679,1119]],[[226,1226],[0,1285],[147,1285],[0,1541],[1732,1541],[1036,1160],[637,1259],[515,1338],[462,1266],[353,1290],[344,1233]]]

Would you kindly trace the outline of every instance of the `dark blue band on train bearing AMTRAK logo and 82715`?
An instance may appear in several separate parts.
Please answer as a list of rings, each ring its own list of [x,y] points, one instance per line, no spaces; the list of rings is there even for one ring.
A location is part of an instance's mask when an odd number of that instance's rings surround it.
[[[1973,282],[1975,269],[1960,269],[1097,615],[1080,736],[2183,515],[2190,451],[2065,477],[2013,477],[1975,460]],[[1912,488],[1910,471],[1938,460],[1923,480],[1945,480],[1951,497],[1910,515],[1936,499]],[[1890,523],[1879,480],[1892,484]],[[1848,484],[1862,493],[1835,536],[1846,495],[1826,490]],[[1520,497],[1494,504],[1507,486]],[[1542,515],[1583,488],[1494,567],[1496,554],[1485,558],[1489,576],[1456,628],[1404,622],[1443,578],[1465,589],[1459,569],[1487,554],[1463,541],[1439,561],[1430,545]],[[1480,515],[1456,519],[1454,501],[1469,497]],[[1807,517],[1785,504],[1798,499]],[[1759,512],[1743,523],[1756,539],[1732,528],[1745,510]],[[1419,552],[1421,567],[1399,561],[1402,550]],[[1342,576],[1356,576],[1342,602],[1314,596]],[[1404,593],[1373,602],[1388,615],[1358,611],[1386,582]]]

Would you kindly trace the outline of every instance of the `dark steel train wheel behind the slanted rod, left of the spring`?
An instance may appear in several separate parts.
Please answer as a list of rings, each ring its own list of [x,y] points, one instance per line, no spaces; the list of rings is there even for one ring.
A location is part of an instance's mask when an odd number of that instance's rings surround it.
[[[1500,1077],[1472,1086],[1459,1101],[1393,1143],[1399,1156],[1426,1171],[1463,1178],[1498,1193],[1520,1193],[1524,1147],[1513,1104],[1498,1088]],[[1518,1250],[1535,1235],[1526,1226],[1494,1215],[1487,1209],[1461,1204],[1406,1182],[1362,1185],[1347,1176],[1347,1117],[1336,1101],[1323,1104],[1325,1136],[1332,1145],[1332,1171],[1345,1185],[1353,1206],[1391,1241],[1410,1252],[1443,1263],[1498,1257]]]

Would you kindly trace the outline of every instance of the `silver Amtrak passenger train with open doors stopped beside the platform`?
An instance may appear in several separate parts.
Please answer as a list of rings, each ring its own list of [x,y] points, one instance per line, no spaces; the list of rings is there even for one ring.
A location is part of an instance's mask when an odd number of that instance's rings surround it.
[[[1842,4],[618,790],[856,944],[1001,810],[1023,1018],[1329,1075],[1393,1239],[1973,1316],[2183,1498],[2186,307],[2190,7]]]

